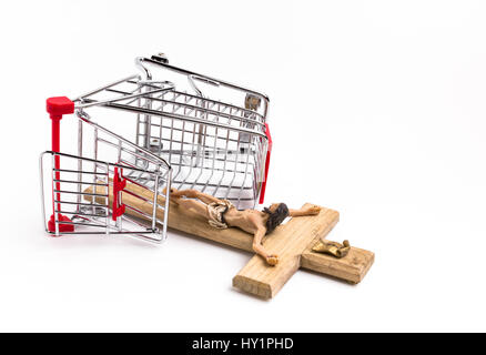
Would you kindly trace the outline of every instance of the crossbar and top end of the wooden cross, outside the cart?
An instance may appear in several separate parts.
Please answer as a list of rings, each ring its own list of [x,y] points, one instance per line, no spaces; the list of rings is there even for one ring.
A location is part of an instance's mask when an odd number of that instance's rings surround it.
[[[312,251],[338,219],[336,211],[323,207],[316,216],[293,217],[280,225],[264,242],[267,251],[279,255],[279,264],[269,267],[262,257],[254,255],[234,276],[233,286],[272,298],[301,267],[358,283],[373,263],[373,253],[352,247],[345,257],[335,258]]]

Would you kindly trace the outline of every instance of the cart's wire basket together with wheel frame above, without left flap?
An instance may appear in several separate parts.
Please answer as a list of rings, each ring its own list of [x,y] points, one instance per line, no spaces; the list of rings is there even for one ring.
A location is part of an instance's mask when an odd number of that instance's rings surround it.
[[[232,200],[239,207],[255,206],[264,181],[267,97],[150,59],[139,58],[136,63],[145,72],[143,87],[138,87],[140,77],[130,77],[124,82],[132,84],[132,90],[120,89],[118,84],[122,81],[100,88],[78,98],[79,109],[98,105],[134,113],[134,143],[164,159],[174,169],[174,186],[205,191]],[[153,81],[143,63],[188,75],[195,94],[175,90],[166,81]],[[245,106],[239,106],[205,98],[195,81],[241,91],[246,99],[256,98],[256,104],[246,106],[245,99]],[[102,92],[130,100],[99,101],[94,98]],[[259,110],[260,102],[263,106]]]

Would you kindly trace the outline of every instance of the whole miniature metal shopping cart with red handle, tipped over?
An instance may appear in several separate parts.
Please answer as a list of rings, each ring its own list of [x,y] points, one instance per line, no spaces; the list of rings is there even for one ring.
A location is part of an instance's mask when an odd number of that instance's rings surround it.
[[[170,65],[163,54],[135,63],[143,75],[74,100],[48,99],[52,150],[40,159],[48,233],[160,242],[171,186],[196,189],[239,209],[263,203],[272,148],[267,97]],[[163,80],[154,79],[153,69]],[[78,120],[63,126],[75,130],[77,140],[60,134],[62,116],[71,113]],[[61,152],[61,141],[77,153]]]

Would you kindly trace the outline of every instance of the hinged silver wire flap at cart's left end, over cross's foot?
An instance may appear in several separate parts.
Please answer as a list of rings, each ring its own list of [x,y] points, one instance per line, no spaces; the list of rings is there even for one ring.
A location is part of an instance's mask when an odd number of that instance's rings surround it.
[[[44,182],[44,164],[43,161],[45,156],[51,158],[52,168],[52,205],[54,206],[54,223],[55,231],[49,231],[47,226],[47,215],[45,215],[45,186]],[[54,159],[55,156],[60,156],[63,162],[63,166],[68,163],[69,160],[72,160],[73,163],[82,162],[84,168],[82,170],[78,169],[55,169],[54,168]],[[72,164],[71,164],[72,165]],[[91,165],[92,168],[87,168],[87,165]],[[112,186],[112,178],[114,173],[114,168],[123,169],[124,171],[130,172],[130,174],[149,174],[153,175],[151,181],[154,181],[154,199],[149,200],[144,195],[134,193],[133,191],[125,191],[124,193],[130,194],[135,197],[136,201],[149,203],[152,205],[152,213],[148,214],[141,210],[139,210],[135,205],[131,205],[125,203],[125,207],[132,210],[133,213],[136,214],[140,219],[132,217],[131,214],[123,214],[115,222],[112,221],[110,211],[111,205],[109,203],[109,194],[108,189]],[[55,179],[55,173],[60,173],[60,179]],[[131,168],[123,164],[118,163],[109,163],[100,160],[93,160],[89,158],[81,158],[78,155],[57,153],[52,151],[43,152],[40,156],[40,173],[41,173],[41,199],[42,199],[42,213],[44,221],[44,229],[47,233],[59,236],[60,234],[100,234],[105,233],[110,234],[130,234],[134,237],[140,237],[150,242],[162,242],[165,239],[166,232],[166,213],[164,217],[156,219],[156,210],[162,209],[168,211],[168,205],[159,205],[158,195],[159,190],[168,187],[170,185],[162,184],[163,187],[159,187],[160,183],[166,181],[170,184],[170,170],[169,171],[146,171],[139,170],[135,168]],[[128,174],[128,175],[130,175]],[[81,180],[80,180],[81,176]],[[91,178],[91,179],[90,179]],[[126,178],[128,181],[132,184],[136,184],[139,186],[143,186],[139,184],[136,181],[133,181],[130,178]],[[90,181],[91,180],[91,181]],[[61,189],[58,189],[58,183],[62,184]],[[100,187],[101,186],[101,191]],[[87,191],[85,187],[92,187],[91,191]],[[166,197],[166,196],[164,196]],[[168,199],[166,203],[169,202]],[[60,221],[59,215],[68,215],[71,221]],[[142,220],[148,220],[151,222],[150,226],[146,223],[142,222]],[[126,227],[126,223],[122,223],[122,221],[130,222]],[[60,224],[72,224],[77,226],[74,232],[60,232]],[[160,229],[162,225],[162,230]],[[79,230],[79,227],[82,227]]]

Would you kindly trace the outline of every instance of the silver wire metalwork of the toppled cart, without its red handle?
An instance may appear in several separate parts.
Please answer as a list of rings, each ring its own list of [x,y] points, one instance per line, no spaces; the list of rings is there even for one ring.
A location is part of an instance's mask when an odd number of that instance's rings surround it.
[[[172,82],[152,80],[143,63],[188,75],[195,94],[175,90]],[[267,97],[151,59],[136,59],[136,64],[145,72],[145,80],[131,75],[73,100],[79,119],[78,155],[52,151],[41,154],[42,211],[48,233],[60,235],[60,225],[73,224],[75,232],[63,231],[62,234],[102,232],[161,242],[166,239],[166,191],[171,183],[178,189],[199,189],[233,200],[237,206],[245,202],[256,204],[269,144],[265,134]],[[244,106],[204,97],[196,81],[245,93]],[[94,106],[131,113],[135,118],[134,140],[93,122],[88,111]],[[88,128],[92,134],[87,134]],[[92,136],[89,149],[88,135]],[[112,154],[105,154],[108,151]],[[52,160],[53,232],[49,231],[45,220],[43,160],[47,155]],[[62,169],[55,169],[57,159],[62,159]],[[67,169],[64,164],[69,160],[77,166]],[[149,220],[150,226],[130,214],[123,214],[114,223],[111,221],[108,189],[113,184],[110,176],[115,169],[123,169],[123,178],[130,183],[154,193],[153,201],[148,201],[143,195],[124,191],[152,204],[151,214],[125,204],[142,220]],[[89,192],[87,186],[93,190]],[[97,187],[102,187],[102,193]],[[158,195],[165,197],[163,205],[159,205]],[[162,217],[158,210],[163,211]],[[71,216],[71,221],[60,221],[60,214]]]

